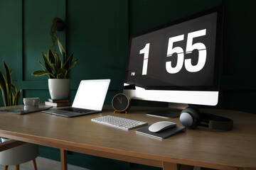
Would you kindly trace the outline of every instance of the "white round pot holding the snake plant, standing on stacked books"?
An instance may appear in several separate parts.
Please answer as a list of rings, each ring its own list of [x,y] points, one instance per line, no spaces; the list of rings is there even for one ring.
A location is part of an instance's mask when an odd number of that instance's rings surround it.
[[[67,99],[70,91],[70,79],[48,79],[50,98]]]

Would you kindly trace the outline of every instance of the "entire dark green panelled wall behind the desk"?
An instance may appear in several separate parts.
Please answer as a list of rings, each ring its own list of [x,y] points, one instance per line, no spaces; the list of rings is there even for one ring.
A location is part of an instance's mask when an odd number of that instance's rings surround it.
[[[37,60],[42,61],[41,52],[51,47],[51,19],[59,16],[66,23],[65,31],[58,33],[60,41],[78,59],[69,74],[70,100],[81,79],[110,78],[106,99],[110,104],[112,96],[122,91],[129,35],[221,4],[225,21],[217,107],[255,113],[253,0],[0,0],[0,59],[13,70],[14,83],[23,89],[23,97],[38,96],[45,101],[50,97],[47,77],[33,77],[31,72],[41,68]],[[0,68],[4,70],[1,63]],[[4,106],[1,98],[0,106]],[[109,159],[69,153],[69,163],[90,169],[102,169],[96,166],[99,162],[112,162],[111,169],[141,169],[135,164],[114,166],[117,162]],[[41,147],[41,156],[58,159],[57,155],[58,150]]]

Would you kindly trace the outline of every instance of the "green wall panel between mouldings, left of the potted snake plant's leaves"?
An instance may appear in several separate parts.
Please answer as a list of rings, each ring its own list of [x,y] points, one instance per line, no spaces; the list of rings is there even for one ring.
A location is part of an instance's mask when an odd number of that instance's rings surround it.
[[[50,4],[50,5],[49,5]],[[64,8],[64,10],[62,10]],[[60,11],[64,13],[60,14]],[[65,16],[65,1],[24,0],[23,1],[23,80],[48,79],[33,77],[31,72],[41,69],[37,60],[42,60],[41,52],[51,48],[50,24],[55,16]],[[63,18],[65,20],[65,18]],[[58,34],[63,39],[63,33]],[[65,42],[64,42],[65,43]]]

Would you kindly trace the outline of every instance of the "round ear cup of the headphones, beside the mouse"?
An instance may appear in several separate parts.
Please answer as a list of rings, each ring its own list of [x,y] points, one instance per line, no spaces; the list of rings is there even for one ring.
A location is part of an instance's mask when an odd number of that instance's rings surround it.
[[[196,128],[200,124],[200,112],[198,108],[188,106],[181,111],[180,121],[186,128]]]

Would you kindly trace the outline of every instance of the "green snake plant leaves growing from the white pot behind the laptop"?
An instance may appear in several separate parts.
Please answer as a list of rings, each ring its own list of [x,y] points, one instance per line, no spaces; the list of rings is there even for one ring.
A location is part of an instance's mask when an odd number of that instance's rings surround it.
[[[49,49],[47,55],[46,53],[42,52],[44,65],[39,60],[38,62],[39,64],[41,64],[43,70],[36,70],[32,72],[33,76],[41,77],[43,75],[48,75],[49,79],[67,78],[68,72],[71,68],[75,66],[75,64],[77,64],[78,60],[75,60],[75,62],[73,62],[73,53],[67,58],[63,45],[61,45],[59,40],[58,47],[63,57],[63,61],[61,60],[60,55],[58,55],[58,53],[55,51]]]

